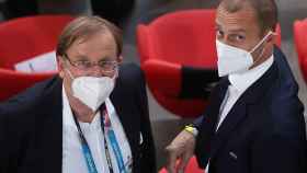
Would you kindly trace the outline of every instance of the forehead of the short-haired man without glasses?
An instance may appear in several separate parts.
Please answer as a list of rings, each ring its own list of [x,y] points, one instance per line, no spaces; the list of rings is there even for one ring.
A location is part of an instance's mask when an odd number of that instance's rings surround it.
[[[216,13],[216,24],[226,31],[255,32],[259,28],[255,11],[247,4],[236,12],[229,12],[224,5],[219,5]]]

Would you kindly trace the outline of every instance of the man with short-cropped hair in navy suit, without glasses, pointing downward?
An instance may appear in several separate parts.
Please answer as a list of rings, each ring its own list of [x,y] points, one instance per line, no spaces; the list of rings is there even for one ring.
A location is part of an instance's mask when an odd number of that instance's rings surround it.
[[[170,173],[182,172],[194,153],[207,173],[307,172],[304,106],[274,46],[276,23],[274,0],[220,2],[216,49],[223,78],[204,115],[167,147]]]

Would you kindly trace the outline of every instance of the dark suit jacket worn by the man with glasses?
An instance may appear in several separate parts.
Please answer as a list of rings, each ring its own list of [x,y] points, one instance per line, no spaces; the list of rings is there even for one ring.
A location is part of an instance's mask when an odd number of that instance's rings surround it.
[[[55,77],[0,104],[1,173],[61,172],[61,90],[62,81]],[[111,101],[130,145],[133,172],[156,172],[145,81],[137,66],[121,67]]]

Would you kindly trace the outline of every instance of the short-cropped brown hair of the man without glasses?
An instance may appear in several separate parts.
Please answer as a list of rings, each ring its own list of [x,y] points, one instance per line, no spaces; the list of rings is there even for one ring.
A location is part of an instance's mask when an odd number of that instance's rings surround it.
[[[246,5],[254,9],[259,22],[260,34],[275,31],[278,21],[277,5],[274,0],[221,0],[220,5],[230,13],[235,13]]]

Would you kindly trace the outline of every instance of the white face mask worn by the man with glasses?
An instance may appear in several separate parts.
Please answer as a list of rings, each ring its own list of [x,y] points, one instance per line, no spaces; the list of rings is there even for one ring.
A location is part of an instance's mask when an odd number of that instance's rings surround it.
[[[78,77],[73,78],[71,72],[67,70],[72,79],[72,95],[79,99],[83,104],[95,112],[103,102],[110,96],[115,85],[115,74],[109,77]]]

